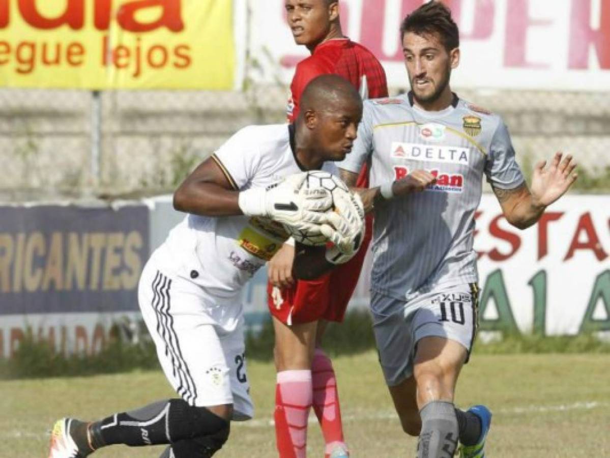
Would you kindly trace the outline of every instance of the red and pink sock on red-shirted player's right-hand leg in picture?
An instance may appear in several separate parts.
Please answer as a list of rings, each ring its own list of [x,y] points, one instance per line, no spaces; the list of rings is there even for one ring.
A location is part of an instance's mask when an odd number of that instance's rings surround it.
[[[311,376],[314,387],[314,411],[320,421],[326,442],[326,456],[328,456],[335,447],[342,446],[347,449],[347,446],[343,438],[337,378],[331,359],[319,348],[314,353]]]

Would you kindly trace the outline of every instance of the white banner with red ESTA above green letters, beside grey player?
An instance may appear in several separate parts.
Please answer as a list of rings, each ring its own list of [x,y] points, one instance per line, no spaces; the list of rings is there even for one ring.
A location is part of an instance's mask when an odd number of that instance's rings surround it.
[[[610,196],[564,196],[525,231],[493,195],[477,215],[481,329],[610,331]]]

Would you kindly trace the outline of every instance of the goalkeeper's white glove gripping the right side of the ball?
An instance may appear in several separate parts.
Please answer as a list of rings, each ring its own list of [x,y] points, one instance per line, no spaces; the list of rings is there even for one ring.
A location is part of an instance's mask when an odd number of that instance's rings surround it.
[[[334,229],[321,226],[321,231],[332,242],[326,249],[326,260],[332,264],[348,262],[360,249],[365,234],[364,204],[359,195],[349,193],[335,196],[337,212],[329,215]],[[330,213],[330,212],[329,212]]]

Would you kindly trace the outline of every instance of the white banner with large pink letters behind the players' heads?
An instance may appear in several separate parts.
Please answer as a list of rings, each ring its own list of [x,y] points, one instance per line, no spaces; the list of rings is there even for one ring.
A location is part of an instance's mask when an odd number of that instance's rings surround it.
[[[252,1],[252,0],[251,0]],[[370,49],[390,87],[406,87],[401,20],[424,0],[342,0],[343,32]],[[545,90],[610,88],[610,0],[446,0],[461,31],[454,87]],[[254,0],[251,70],[290,82],[309,55],[295,45],[284,0]]]

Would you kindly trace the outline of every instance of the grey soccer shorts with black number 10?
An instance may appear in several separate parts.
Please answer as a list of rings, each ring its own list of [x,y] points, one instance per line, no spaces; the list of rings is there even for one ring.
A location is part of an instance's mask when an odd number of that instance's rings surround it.
[[[437,287],[404,299],[371,292],[373,331],[386,384],[395,386],[413,374],[417,342],[445,337],[468,351],[478,327],[476,284]]]

